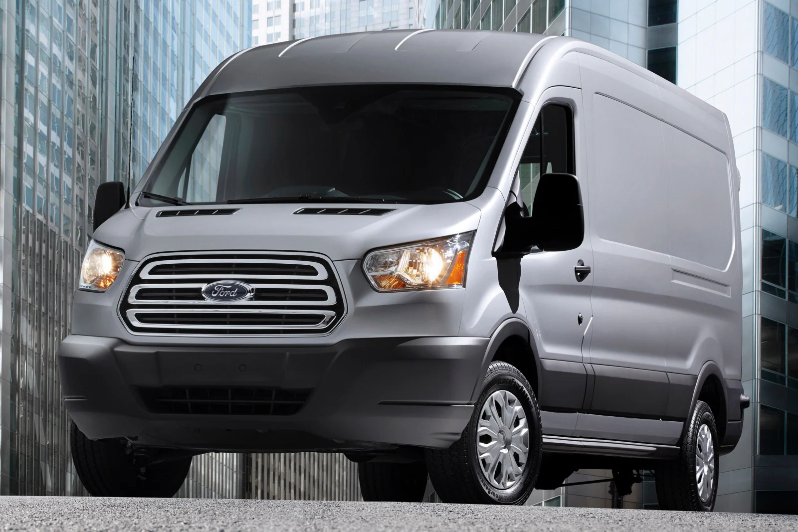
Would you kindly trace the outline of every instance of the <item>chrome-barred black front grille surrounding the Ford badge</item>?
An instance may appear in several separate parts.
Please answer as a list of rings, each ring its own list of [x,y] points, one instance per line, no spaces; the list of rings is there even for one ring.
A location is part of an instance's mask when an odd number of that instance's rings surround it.
[[[251,297],[216,302],[209,283],[234,280]],[[220,335],[325,334],[341,320],[341,290],[325,258],[313,254],[199,253],[141,263],[120,301],[132,333]]]

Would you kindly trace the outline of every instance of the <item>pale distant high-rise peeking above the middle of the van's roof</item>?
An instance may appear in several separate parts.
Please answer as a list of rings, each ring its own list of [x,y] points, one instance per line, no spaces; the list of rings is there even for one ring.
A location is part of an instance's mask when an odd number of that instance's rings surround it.
[[[252,0],[252,42],[421,27],[424,0]]]

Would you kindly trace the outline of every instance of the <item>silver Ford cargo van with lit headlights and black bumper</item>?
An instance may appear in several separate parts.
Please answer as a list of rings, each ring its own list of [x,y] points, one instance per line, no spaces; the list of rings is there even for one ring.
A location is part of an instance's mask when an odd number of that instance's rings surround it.
[[[61,343],[93,495],[208,451],[342,452],[366,500],[523,504],[580,468],[712,510],[741,435],[725,115],[570,37],[257,46],[97,188]]]

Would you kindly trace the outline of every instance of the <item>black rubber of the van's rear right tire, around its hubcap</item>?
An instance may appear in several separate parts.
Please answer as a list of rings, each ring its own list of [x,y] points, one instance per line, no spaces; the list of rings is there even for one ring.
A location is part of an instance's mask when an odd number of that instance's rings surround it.
[[[715,507],[717,496],[718,463],[720,456],[717,454],[718,439],[717,425],[712,409],[704,401],[697,401],[693,409],[693,416],[687,420],[688,428],[685,440],[681,444],[681,451],[677,459],[663,462],[654,470],[657,483],[657,500],[660,510],[686,510],[686,511],[712,511]],[[701,428],[706,427],[712,438],[712,458],[707,458],[707,463],[712,463],[711,473],[705,474],[712,480],[712,485],[707,490],[706,485],[701,488],[701,493],[696,479],[696,448],[701,448]],[[702,449],[702,453],[707,449]],[[701,495],[704,495],[703,497]]]

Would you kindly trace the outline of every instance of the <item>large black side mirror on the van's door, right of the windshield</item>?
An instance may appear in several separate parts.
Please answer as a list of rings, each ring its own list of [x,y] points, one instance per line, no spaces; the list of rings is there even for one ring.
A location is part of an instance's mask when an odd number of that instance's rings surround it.
[[[573,250],[582,245],[585,234],[579,180],[571,174],[540,176],[531,216],[513,202],[504,210],[504,240],[497,253],[503,258],[529,254],[533,247],[543,251]]]

